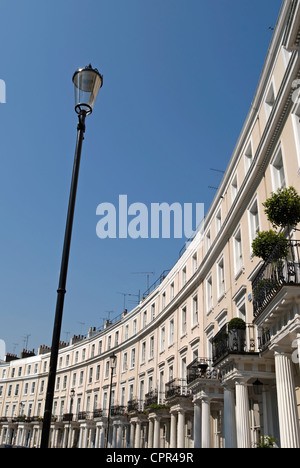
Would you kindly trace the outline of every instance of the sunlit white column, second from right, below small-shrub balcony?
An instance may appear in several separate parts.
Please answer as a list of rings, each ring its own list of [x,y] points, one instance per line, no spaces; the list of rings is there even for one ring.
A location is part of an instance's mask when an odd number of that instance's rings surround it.
[[[251,448],[250,408],[247,383],[239,380],[236,391],[236,429],[238,448]]]

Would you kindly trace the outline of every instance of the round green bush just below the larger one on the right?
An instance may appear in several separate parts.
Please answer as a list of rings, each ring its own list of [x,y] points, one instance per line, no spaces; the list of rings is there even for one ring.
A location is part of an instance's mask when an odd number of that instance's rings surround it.
[[[252,250],[256,257],[264,262],[273,254],[272,261],[278,261],[288,255],[288,241],[282,233],[270,231],[258,232],[252,242]]]

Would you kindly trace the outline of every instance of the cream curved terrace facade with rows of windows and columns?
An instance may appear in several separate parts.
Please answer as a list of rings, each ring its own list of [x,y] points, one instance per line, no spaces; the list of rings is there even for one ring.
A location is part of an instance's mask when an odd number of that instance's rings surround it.
[[[283,185],[300,192],[299,42],[300,4],[285,0],[202,229],[134,310],[60,349],[51,447],[250,448],[262,435],[300,447],[299,232],[298,257],[261,303],[251,253],[271,228],[262,203]],[[234,317],[245,336],[229,331]],[[40,348],[0,364],[0,445],[39,446],[49,359]]]

